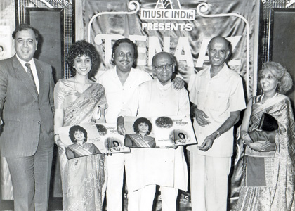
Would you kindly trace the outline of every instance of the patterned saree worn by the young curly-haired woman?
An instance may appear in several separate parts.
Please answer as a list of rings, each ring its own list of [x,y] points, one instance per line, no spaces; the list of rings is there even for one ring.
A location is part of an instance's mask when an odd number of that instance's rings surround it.
[[[96,106],[106,108],[103,86],[92,84],[82,94],[70,91],[71,100],[65,104],[63,126],[91,122]],[[67,160],[65,151],[59,149],[63,185],[63,210],[102,210],[105,194],[104,155],[89,155]]]

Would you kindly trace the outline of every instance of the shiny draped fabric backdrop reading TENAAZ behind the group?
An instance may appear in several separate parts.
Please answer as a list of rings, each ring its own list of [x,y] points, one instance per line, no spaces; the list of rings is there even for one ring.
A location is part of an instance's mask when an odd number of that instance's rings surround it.
[[[247,97],[256,95],[258,0],[141,0],[136,1],[137,4],[130,3],[128,0],[75,3],[76,39],[85,39],[96,46],[102,58],[100,71],[112,68],[114,41],[127,37],[138,46],[137,68],[151,72],[152,56],[159,51],[169,51],[178,60],[178,73],[188,81],[190,75],[209,65],[206,47],[211,37],[221,35],[232,44],[230,68],[244,79]],[[197,6],[201,4],[204,6],[198,12]],[[182,193],[179,201],[180,210],[190,210],[189,193]]]

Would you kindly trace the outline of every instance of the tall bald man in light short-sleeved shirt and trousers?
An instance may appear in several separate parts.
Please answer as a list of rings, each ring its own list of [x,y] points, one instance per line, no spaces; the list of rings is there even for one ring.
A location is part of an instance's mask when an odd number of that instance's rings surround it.
[[[193,211],[227,210],[228,174],[233,150],[233,126],[246,108],[242,78],[225,63],[230,42],[209,42],[210,67],[190,77],[188,90],[195,115],[198,145],[190,151],[190,192]]]

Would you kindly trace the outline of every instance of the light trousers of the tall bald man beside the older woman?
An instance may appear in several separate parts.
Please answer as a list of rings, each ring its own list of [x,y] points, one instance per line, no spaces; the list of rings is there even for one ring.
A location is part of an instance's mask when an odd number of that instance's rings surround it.
[[[190,151],[192,211],[226,211],[231,158],[214,158]]]

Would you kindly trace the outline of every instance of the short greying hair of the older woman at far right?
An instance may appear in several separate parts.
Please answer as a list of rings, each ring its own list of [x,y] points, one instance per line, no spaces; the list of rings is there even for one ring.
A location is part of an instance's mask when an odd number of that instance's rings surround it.
[[[277,84],[277,92],[280,94],[284,94],[287,91],[289,91],[293,87],[293,80],[291,78],[291,75],[287,71],[286,68],[284,68],[280,63],[275,62],[268,62],[264,63],[261,70],[258,72],[259,77],[261,77],[261,73],[263,70],[269,70],[275,78],[279,81]],[[260,83],[258,83],[259,86]]]

